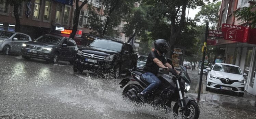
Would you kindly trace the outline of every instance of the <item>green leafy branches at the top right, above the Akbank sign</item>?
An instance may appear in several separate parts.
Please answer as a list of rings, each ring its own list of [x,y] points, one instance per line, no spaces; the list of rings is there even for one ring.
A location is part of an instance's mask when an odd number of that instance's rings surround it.
[[[252,10],[253,8],[256,8],[256,4],[249,6],[249,7],[243,7],[241,10],[235,12],[235,17],[238,18],[237,20],[241,20],[241,23],[247,22],[252,25],[252,28],[256,26],[256,10]]]

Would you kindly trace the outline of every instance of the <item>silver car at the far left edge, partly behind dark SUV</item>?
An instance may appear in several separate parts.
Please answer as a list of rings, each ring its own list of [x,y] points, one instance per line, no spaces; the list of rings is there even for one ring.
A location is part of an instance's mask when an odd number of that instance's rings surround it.
[[[3,54],[21,53],[22,43],[32,41],[29,35],[0,30],[0,52]]]

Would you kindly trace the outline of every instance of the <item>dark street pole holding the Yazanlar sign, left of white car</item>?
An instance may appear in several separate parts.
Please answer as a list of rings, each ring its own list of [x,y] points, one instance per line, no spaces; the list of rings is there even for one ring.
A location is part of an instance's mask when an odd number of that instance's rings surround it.
[[[207,36],[208,36],[208,27],[209,27],[209,22],[207,22],[207,23],[206,23],[206,26],[205,26],[203,58],[202,58],[202,65],[201,65],[201,71],[200,71],[200,80],[199,80],[199,88],[198,88],[197,100],[200,100],[200,94],[201,94],[201,88],[202,88],[202,79],[203,79],[203,70],[204,70],[204,60],[205,60],[206,45],[207,45]],[[207,77],[207,76],[206,76],[206,77]]]

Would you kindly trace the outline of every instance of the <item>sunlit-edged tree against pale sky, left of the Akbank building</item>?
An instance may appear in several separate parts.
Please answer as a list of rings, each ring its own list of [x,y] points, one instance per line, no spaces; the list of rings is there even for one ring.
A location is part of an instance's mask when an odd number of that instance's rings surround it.
[[[200,18],[203,20],[203,23],[210,23],[210,27],[212,30],[217,30],[218,27],[218,11],[220,7],[221,1],[211,2],[202,6],[200,11],[195,15],[196,18]]]

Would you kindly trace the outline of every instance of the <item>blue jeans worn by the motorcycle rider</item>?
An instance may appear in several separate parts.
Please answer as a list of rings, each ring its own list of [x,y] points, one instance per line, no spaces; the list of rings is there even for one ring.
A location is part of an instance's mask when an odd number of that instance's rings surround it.
[[[151,91],[155,90],[159,86],[161,86],[161,81],[151,72],[146,72],[142,74],[142,78],[144,78],[150,85],[142,91],[143,94],[149,94]]]

